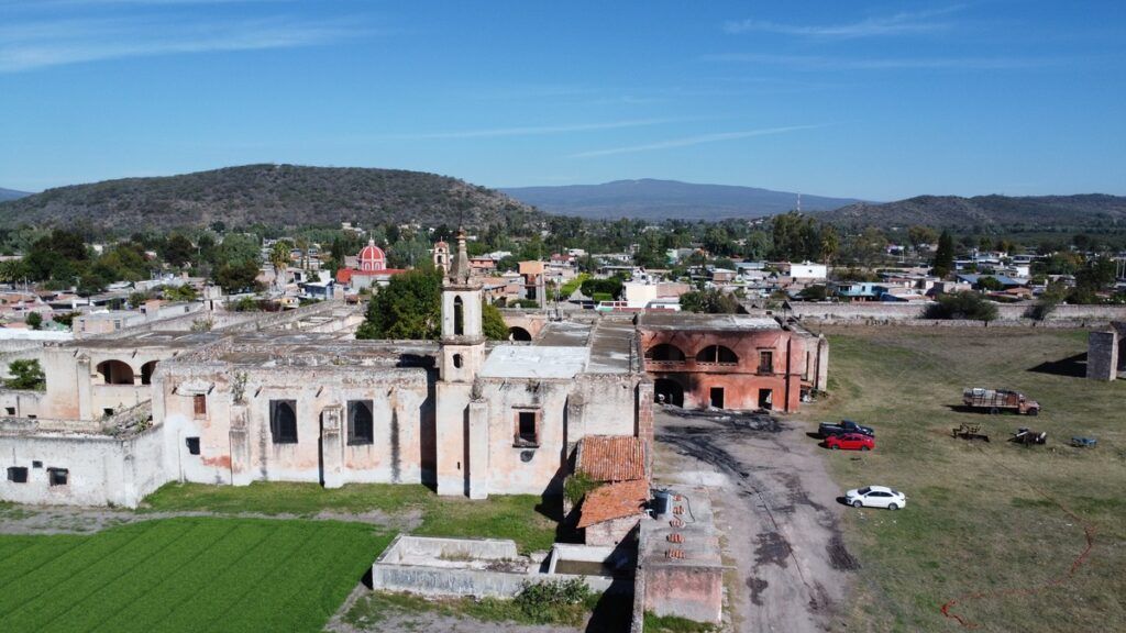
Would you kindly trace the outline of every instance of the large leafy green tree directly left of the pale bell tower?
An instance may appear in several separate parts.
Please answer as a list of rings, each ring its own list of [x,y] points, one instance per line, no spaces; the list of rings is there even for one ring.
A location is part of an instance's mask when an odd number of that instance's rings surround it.
[[[395,275],[367,304],[358,339],[435,339],[441,322],[441,274]]]

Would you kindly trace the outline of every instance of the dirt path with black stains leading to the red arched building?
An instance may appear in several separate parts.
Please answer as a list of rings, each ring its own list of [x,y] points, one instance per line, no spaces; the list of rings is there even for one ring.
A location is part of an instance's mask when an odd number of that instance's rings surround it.
[[[658,483],[712,488],[733,627],[804,633],[838,628],[834,615],[856,561],[844,549],[840,491],[804,427],[724,412],[656,413]]]

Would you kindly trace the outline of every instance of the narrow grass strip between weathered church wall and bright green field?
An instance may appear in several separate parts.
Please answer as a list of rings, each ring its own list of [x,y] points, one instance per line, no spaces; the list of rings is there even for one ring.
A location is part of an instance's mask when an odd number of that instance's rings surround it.
[[[548,550],[556,521],[540,511],[534,494],[493,496],[486,500],[438,497],[423,485],[348,484],[327,490],[315,483],[256,482],[248,487],[168,484],[145,499],[144,511],[206,510],[310,517],[322,511],[390,515],[421,512],[419,536],[511,538],[521,552]]]

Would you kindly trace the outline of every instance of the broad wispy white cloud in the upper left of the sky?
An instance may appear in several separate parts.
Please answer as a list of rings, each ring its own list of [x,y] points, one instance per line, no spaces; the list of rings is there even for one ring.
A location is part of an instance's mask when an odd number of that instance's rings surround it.
[[[0,27],[0,72],[113,60],[328,44],[364,30],[342,21],[284,17],[200,23],[173,18],[83,18]]]

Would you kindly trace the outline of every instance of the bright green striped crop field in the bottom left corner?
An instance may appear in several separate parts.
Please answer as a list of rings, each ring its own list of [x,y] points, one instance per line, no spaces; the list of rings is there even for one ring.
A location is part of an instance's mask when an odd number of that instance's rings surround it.
[[[0,631],[320,631],[390,540],[209,517],[0,536]]]

